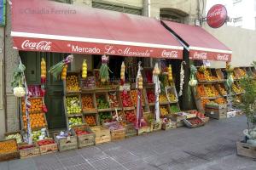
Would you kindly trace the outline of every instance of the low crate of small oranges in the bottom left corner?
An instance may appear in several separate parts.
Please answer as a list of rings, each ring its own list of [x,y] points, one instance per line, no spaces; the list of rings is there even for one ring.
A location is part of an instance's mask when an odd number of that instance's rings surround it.
[[[20,158],[16,139],[0,141],[0,161],[9,161]]]

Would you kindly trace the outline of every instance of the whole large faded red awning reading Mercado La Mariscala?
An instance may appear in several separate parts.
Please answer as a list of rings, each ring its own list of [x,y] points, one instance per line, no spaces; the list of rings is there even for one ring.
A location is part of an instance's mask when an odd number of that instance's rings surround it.
[[[47,0],[12,0],[14,48],[72,54],[182,59],[159,20]]]

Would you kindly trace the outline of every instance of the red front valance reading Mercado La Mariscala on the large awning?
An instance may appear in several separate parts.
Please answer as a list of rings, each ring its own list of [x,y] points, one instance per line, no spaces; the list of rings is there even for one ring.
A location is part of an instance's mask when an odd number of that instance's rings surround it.
[[[155,46],[150,44],[146,44],[147,46],[136,46],[132,43],[126,44],[126,42],[119,44],[104,42],[73,42],[28,37],[15,37],[14,43],[16,44],[14,48],[22,51],[57,52],[71,54],[107,54],[131,57],[136,56],[164,59],[183,59],[183,48],[171,48],[170,46],[158,44]]]

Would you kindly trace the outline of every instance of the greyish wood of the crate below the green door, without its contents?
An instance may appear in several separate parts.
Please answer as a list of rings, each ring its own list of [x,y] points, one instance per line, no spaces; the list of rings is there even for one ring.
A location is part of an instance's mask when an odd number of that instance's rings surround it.
[[[74,150],[78,149],[78,139],[76,134],[71,130],[72,136],[69,136],[64,139],[57,139],[56,136],[59,133],[54,134],[55,142],[58,144],[58,148],[60,151],[64,150]]]

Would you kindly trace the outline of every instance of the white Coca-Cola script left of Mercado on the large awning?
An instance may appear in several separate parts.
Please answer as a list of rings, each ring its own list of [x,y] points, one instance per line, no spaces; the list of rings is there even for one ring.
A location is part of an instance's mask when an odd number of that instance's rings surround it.
[[[50,51],[50,45],[52,42],[41,41],[41,42],[30,42],[29,40],[25,40],[21,44],[22,49],[32,49],[32,50],[40,50],[40,51]]]

